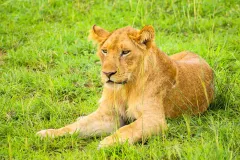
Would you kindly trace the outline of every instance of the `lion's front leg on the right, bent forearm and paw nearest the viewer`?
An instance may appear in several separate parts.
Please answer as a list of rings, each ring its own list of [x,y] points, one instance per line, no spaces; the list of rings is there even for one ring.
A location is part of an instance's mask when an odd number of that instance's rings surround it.
[[[150,135],[156,135],[167,128],[164,115],[143,115],[135,122],[121,127],[113,135],[106,137],[100,142],[99,147],[111,146],[115,143],[128,141],[133,144]]]

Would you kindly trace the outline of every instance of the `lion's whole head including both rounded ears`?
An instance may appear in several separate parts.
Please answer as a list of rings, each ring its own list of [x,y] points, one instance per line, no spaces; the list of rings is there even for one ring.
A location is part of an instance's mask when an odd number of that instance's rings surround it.
[[[132,27],[108,32],[93,26],[90,38],[98,43],[97,55],[102,64],[101,77],[107,86],[123,86],[133,82],[140,69],[146,51],[154,39],[152,26],[142,30]]]

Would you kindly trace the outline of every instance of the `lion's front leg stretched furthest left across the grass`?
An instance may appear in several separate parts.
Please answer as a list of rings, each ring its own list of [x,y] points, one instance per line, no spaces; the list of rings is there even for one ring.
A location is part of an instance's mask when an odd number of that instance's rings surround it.
[[[37,132],[41,137],[57,137],[65,134],[79,132],[80,136],[101,135],[111,133],[121,124],[120,119],[116,119],[114,114],[106,114],[97,110],[88,116],[79,118],[76,122],[59,129],[46,129]]]

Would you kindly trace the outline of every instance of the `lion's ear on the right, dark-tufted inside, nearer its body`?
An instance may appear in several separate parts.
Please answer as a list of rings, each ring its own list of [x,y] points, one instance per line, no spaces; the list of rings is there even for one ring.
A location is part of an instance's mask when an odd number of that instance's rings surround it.
[[[154,28],[152,26],[143,27],[136,37],[132,37],[140,45],[145,45],[146,48],[150,48],[154,41]]]

